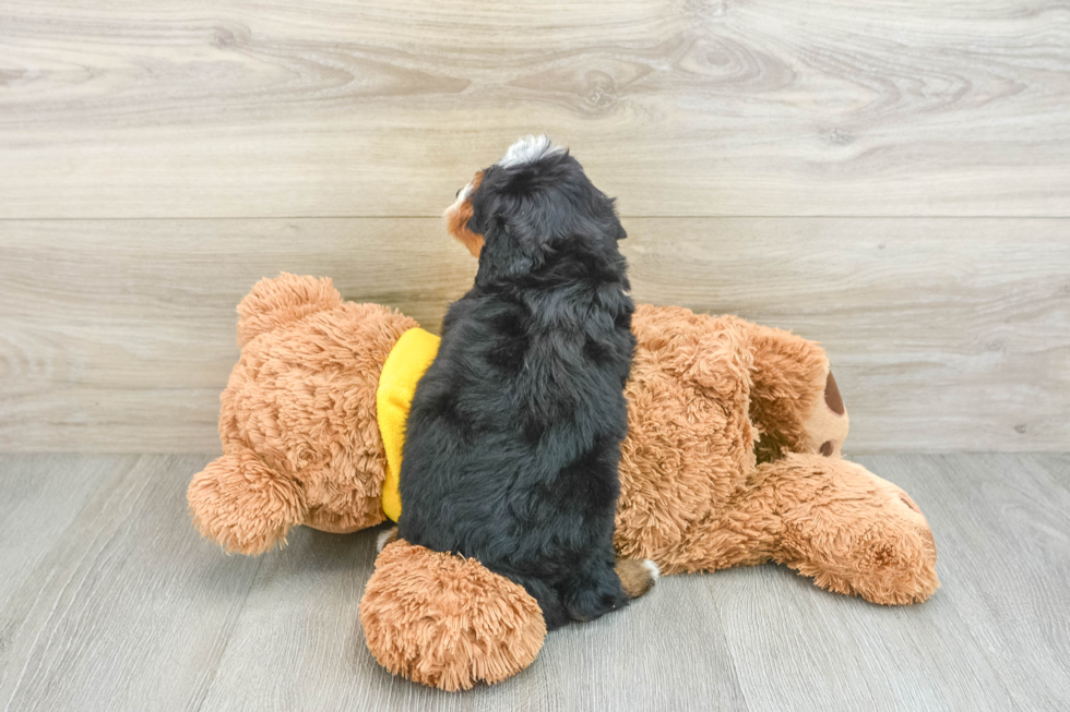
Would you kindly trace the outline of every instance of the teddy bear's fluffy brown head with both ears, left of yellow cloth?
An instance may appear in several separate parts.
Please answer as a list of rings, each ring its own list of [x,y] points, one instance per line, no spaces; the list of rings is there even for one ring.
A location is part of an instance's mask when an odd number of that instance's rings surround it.
[[[417,323],[343,302],[330,279],[287,274],[261,280],[238,314],[241,358],[219,397],[223,456],[188,493],[198,529],[259,554],[297,524],[350,532],[383,521],[377,389]]]

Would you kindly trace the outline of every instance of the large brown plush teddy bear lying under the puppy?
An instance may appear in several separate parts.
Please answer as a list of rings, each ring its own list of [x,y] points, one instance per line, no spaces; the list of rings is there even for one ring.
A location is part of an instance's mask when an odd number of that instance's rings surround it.
[[[241,358],[221,397],[223,456],[189,487],[197,528],[260,554],[298,524],[396,519],[404,418],[437,337],[330,279],[282,275],[238,306]],[[939,586],[905,492],[841,457],[847,413],[822,349],[734,316],[640,305],[626,387],[616,545],[665,574],[777,562],[881,604]],[[442,689],[526,667],[545,626],[524,589],[472,559],[387,545],[360,618],[395,674]]]

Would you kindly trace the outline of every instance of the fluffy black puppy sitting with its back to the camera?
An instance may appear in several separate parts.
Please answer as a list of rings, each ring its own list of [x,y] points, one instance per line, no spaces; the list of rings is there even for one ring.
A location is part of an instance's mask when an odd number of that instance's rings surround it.
[[[397,535],[522,584],[549,629],[596,618],[657,576],[613,546],[635,345],[614,201],[528,137],[447,219],[479,270],[413,398]]]

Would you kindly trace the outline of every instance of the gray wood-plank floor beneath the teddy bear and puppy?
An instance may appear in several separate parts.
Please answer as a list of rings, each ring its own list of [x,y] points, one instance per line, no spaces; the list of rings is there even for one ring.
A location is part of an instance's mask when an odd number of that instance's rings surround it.
[[[673,577],[449,695],[392,678],[357,603],[374,532],[200,540],[207,456],[0,457],[5,710],[1066,710],[1070,455],[857,458],[927,512],[943,588],[882,608],[774,566]]]

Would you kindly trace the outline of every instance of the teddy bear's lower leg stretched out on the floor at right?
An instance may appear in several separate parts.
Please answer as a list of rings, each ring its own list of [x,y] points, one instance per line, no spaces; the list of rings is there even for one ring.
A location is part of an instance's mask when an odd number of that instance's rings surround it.
[[[759,466],[754,483],[780,521],[772,558],[819,587],[882,604],[918,603],[939,587],[929,523],[891,482],[846,460],[789,455]]]

